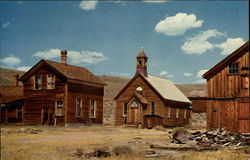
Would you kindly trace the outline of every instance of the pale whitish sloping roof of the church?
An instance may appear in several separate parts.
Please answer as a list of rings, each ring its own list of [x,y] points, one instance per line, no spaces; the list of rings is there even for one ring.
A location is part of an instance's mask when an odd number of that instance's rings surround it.
[[[191,101],[170,80],[153,75],[148,75],[148,77],[144,78],[164,99],[191,103]]]

